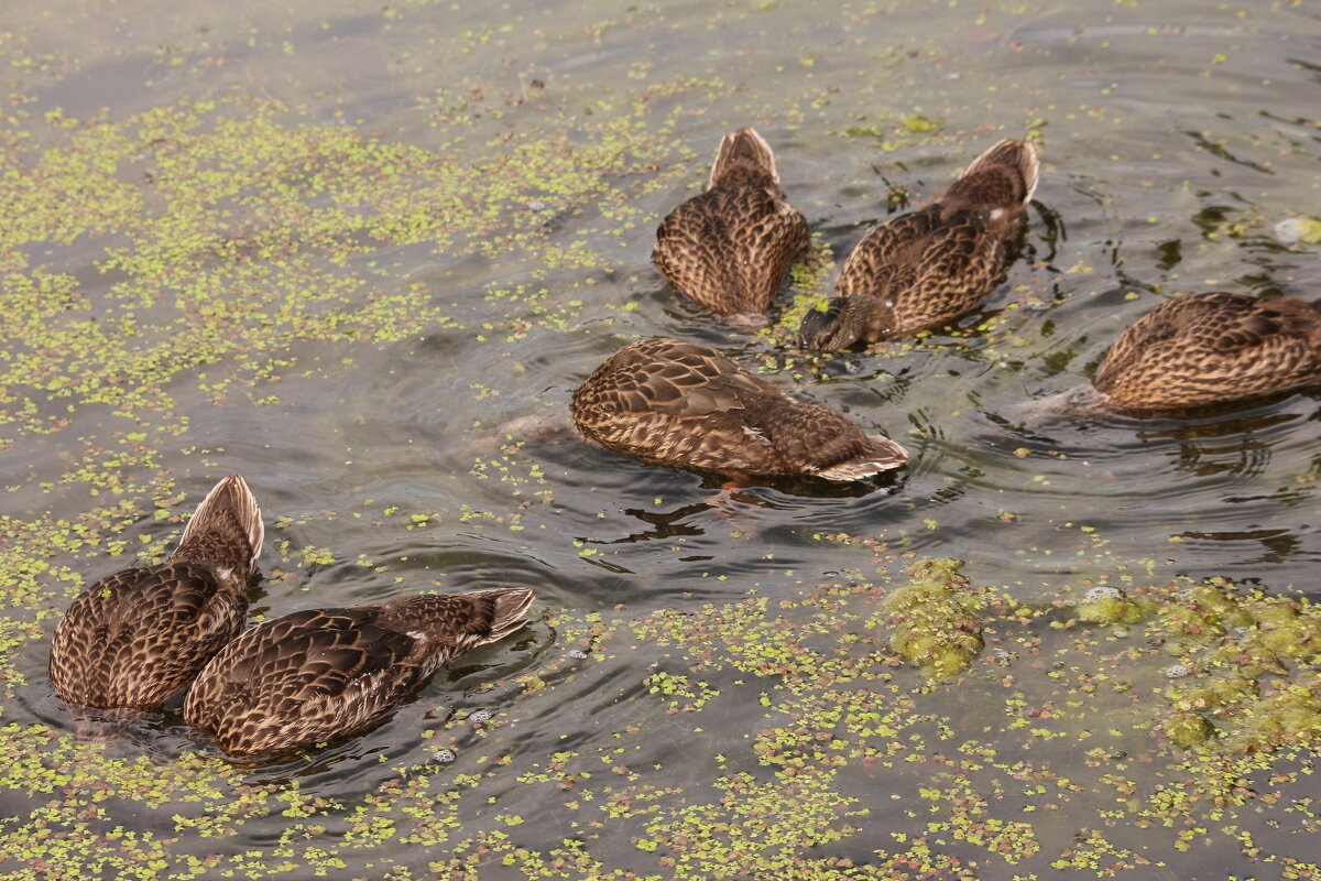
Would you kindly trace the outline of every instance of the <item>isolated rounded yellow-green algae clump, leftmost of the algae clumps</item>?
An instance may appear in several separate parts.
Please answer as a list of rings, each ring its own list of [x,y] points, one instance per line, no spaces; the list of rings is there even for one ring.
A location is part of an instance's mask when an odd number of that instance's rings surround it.
[[[892,627],[890,647],[935,682],[959,672],[982,654],[982,601],[955,560],[922,560],[913,581],[892,590],[881,609]],[[873,623],[875,626],[875,623]]]

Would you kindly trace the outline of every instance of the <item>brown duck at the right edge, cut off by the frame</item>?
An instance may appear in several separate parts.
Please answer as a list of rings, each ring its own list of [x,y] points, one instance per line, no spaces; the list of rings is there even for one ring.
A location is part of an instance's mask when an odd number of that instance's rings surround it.
[[[1086,415],[1176,412],[1321,384],[1321,301],[1194,293],[1119,335],[1091,386],[1036,402]]]

